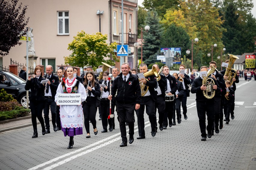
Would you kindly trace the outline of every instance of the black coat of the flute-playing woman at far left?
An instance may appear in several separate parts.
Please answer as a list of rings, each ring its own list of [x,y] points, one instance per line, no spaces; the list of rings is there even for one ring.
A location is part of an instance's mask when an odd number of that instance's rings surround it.
[[[42,76],[38,78],[32,78],[28,80],[25,85],[25,90],[31,90],[29,94],[30,101],[45,101],[44,98],[44,84],[41,84],[41,81],[45,80]]]

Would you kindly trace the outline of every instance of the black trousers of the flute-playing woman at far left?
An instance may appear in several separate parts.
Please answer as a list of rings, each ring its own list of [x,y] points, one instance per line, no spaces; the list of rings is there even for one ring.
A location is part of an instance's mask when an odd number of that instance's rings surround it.
[[[30,101],[31,120],[32,120],[33,129],[37,129],[36,118],[41,123],[41,126],[44,127],[44,118],[42,116],[42,112],[45,104],[44,102],[45,101],[33,101],[33,100]]]

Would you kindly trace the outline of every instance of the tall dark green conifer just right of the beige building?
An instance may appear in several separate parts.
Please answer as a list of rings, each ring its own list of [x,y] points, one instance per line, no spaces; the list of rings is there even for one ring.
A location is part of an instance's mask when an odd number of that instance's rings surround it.
[[[160,36],[162,29],[160,28],[156,12],[148,12],[148,16],[145,19],[145,25],[149,25],[150,30],[143,33],[142,61],[149,65],[157,61],[157,52],[160,49]],[[140,48],[138,49],[138,55],[141,55]]]

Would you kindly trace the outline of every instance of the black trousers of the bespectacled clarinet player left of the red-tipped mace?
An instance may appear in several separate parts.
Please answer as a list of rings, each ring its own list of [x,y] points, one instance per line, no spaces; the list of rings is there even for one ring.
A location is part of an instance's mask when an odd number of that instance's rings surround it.
[[[109,124],[109,127],[112,127],[112,121],[111,121],[111,119],[108,119],[109,108],[110,108],[109,106],[110,106],[109,100],[102,98],[102,100],[100,101],[101,121],[102,121],[102,127],[105,130],[107,130],[108,124]],[[111,112],[112,112],[112,110],[111,110]]]

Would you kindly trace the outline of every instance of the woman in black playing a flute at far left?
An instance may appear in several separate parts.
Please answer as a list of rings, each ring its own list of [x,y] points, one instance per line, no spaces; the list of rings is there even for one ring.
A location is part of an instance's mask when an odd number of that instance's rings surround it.
[[[38,137],[37,132],[37,122],[36,118],[41,123],[42,127],[42,135],[45,135],[45,126],[44,126],[44,118],[42,117],[42,112],[45,104],[44,98],[44,84],[41,83],[42,80],[45,78],[42,77],[42,69],[41,67],[35,67],[34,74],[28,77],[28,80],[25,85],[25,90],[31,90],[29,94],[29,101],[30,101],[30,110],[31,110],[31,120],[34,129],[34,133],[32,138]]]

